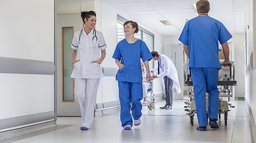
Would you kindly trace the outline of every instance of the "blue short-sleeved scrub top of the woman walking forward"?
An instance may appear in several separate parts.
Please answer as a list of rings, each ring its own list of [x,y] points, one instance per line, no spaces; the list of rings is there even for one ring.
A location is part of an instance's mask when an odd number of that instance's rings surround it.
[[[117,81],[142,83],[140,59],[145,62],[150,61],[153,57],[144,41],[138,39],[130,44],[123,39],[116,45],[112,58],[121,61],[120,63],[125,66],[118,70]]]

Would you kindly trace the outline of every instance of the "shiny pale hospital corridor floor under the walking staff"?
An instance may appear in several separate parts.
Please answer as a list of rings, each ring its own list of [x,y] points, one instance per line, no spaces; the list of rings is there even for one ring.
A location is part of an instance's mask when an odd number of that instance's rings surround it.
[[[79,117],[58,117],[56,127],[3,142],[254,142],[245,101],[231,101],[236,107],[228,112],[227,126],[221,115],[220,129],[207,126],[207,131],[197,130],[196,117],[190,125],[184,101],[175,100],[169,110],[159,109],[164,100],[157,101],[154,110],[143,107],[141,124],[132,130],[122,129],[118,112],[95,117],[88,131],[80,130]]]

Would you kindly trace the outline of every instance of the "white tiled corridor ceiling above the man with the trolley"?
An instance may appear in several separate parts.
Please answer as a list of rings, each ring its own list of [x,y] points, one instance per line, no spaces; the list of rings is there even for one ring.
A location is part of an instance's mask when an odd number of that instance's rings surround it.
[[[163,36],[180,35],[186,19],[197,16],[197,0],[103,0]],[[246,0],[208,0],[209,16],[221,21],[231,34],[245,32]],[[172,25],[164,25],[167,20]]]

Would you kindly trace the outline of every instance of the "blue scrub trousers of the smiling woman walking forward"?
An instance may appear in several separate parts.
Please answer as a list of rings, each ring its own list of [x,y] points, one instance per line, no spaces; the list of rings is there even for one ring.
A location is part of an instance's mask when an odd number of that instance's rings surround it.
[[[138,120],[142,116],[142,104],[140,103],[140,100],[142,100],[143,96],[142,83],[118,81],[118,88],[121,105],[120,119],[122,127],[126,125],[133,126],[133,119]],[[131,102],[133,105],[133,119],[130,112]]]

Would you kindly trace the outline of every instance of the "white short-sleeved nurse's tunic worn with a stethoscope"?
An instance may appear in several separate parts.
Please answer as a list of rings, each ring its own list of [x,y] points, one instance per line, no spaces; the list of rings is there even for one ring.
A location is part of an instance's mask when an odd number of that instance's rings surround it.
[[[92,63],[92,61],[97,61],[100,59],[100,50],[106,48],[106,43],[101,32],[96,31],[96,40],[93,31],[94,30],[87,35],[83,28],[81,35],[81,30],[74,34],[71,48],[77,50],[76,61],[80,61],[74,64],[74,69],[71,74],[72,78],[101,78],[104,76],[100,65],[97,63]],[[78,42],[79,35],[80,43]],[[96,44],[94,45],[93,37],[94,42],[96,40]]]

